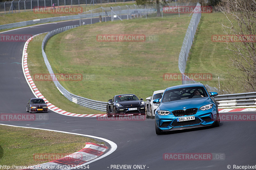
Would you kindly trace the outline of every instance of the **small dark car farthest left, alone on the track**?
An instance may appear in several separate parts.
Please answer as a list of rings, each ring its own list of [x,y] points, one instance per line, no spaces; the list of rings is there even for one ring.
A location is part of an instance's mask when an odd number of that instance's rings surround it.
[[[43,99],[41,98],[31,98],[27,102],[27,112],[48,112],[48,107]]]

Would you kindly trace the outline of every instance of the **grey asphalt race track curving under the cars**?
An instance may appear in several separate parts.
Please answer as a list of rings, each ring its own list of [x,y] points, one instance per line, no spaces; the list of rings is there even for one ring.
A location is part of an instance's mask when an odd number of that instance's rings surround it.
[[[98,21],[94,19],[93,22]],[[84,20],[90,23],[90,20]],[[32,26],[3,34],[38,34],[79,20]],[[34,97],[22,72],[25,42],[0,42],[1,113],[27,113],[26,102]],[[43,63],[44,64],[44,63]],[[54,101],[50,101],[54,104]],[[255,114],[255,112],[240,112]],[[53,129],[107,138],[117,144],[115,152],[91,163],[90,170],[109,170],[111,165],[145,165],[148,170],[228,169],[256,164],[256,123],[221,122],[217,128],[183,130],[157,136],[153,119],[144,121],[99,121],[97,118],[64,116],[52,111],[44,121],[0,121],[2,124]],[[225,160],[164,160],[164,153],[221,153]],[[143,168],[143,166],[142,166]],[[139,169],[139,168],[135,168]]]

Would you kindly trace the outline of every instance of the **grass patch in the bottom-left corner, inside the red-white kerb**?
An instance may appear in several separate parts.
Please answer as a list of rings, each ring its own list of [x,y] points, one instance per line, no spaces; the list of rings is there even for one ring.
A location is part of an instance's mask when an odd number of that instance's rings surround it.
[[[32,166],[49,162],[38,161],[33,154],[74,153],[92,138],[37,129],[0,125],[0,165]]]

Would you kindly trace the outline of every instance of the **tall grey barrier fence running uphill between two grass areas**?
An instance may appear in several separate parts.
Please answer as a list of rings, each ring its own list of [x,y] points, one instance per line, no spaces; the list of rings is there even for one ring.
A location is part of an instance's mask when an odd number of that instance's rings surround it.
[[[201,4],[197,3],[196,7],[198,9],[201,9]],[[196,82],[193,79],[188,78],[187,76],[184,75],[185,70],[186,70],[186,65],[188,61],[188,54],[191,49],[191,46],[193,44],[193,40],[195,38],[196,34],[196,28],[199,24],[200,18],[201,18],[201,12],[193,12],[192,18],[190,20],[190,23],[188,25],[188,29],[185,35],[185,38],[182,43],[182,47],[180,50],[180,55],[179,55],[179,70],[180,73],[182,74],[182,84],[190,84],[190,83],[200,83]],[[209,85],[205,85],[208,89],[208,91],[211,92],[218,92],[219,90],[216,87],[211,87]]]

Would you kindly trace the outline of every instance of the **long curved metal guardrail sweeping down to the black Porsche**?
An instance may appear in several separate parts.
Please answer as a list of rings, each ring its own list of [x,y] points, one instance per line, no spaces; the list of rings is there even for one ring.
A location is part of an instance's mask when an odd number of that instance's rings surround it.
[[[46,36],[44,37],[44,40],[42,42],[42,54],[43,54],[43,57],[44,57],[44,63],[45,63],[45,65],[46,65],[46,67],[47,67],[47,69],[48,69],[48,71],[51,75],[54,75],[54,73],[53,73],[52,67],[51,67],[51,65],[50,65],[50,63],[47,59],[47,56],[45,54],[44,46],[45,46],[46,42],[49,40],[49,38],[52,37],[53,35],[58,34],[58,33],[62,33],[64,31],[67,31],[67,30],[75,28],[75,27],[78,27],[78,25],[65,26],[65,27],[62,27],[62,28],[58,28],[56,30],[53,30],[53,31],[47,33]],[[95,110],[100,110],[100,111],[106,111],[107,102],[91,100],[91,99],[87,99],[87,98],[72,94],[72,93],[68,92],[68,90],[66,90],[60,84],[60,82],[56,79],[55,76],[53,76],[53,78],[56,80],[56,81],[53,81],[55,86],[58,88],[58,90],[66,98],[68,98],[68,100],[70,100],[70,101],[72,101],[72,102],[74,102],[78,105],[84,106],[84,107],[88,107],[88,108],[95,109]]]

